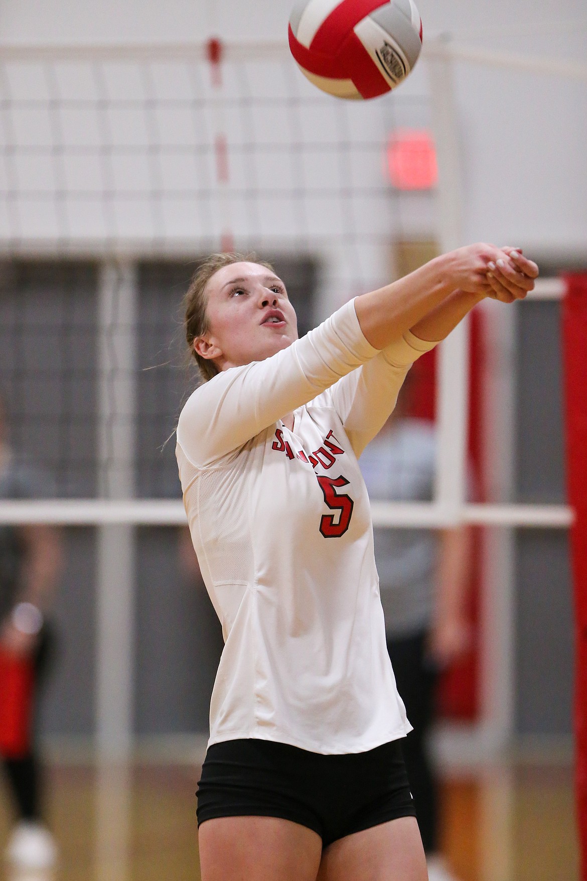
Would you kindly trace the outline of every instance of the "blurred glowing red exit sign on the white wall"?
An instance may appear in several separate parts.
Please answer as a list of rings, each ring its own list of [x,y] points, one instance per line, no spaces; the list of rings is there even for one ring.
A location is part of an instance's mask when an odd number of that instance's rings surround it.
[[[396,189],[436,187],[437,151],[429,131],[396,129],[387,142],[385,171]]]

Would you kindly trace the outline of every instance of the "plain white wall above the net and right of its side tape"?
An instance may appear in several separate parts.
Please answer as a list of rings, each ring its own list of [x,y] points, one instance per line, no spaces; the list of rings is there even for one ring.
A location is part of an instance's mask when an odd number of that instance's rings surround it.
[[[291,0],[4,0],[0,44],[284,40]],[[425,35],[583,61],[582,0],[420,0]],[[456,66],[466,193],[464,238],[587,249],[587,88],[532,73]]]

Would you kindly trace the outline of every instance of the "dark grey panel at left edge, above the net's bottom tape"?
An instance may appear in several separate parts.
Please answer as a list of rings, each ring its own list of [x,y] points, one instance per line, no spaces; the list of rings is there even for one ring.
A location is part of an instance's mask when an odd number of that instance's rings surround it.
[[[64,497],[96,492],[96,279],[92,263],[0,263],[11,446]]]

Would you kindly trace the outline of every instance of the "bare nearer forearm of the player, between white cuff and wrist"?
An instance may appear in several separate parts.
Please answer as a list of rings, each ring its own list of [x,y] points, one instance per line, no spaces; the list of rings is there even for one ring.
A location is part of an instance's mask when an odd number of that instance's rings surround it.
[[[415,328],[459,286],[451,268],[451,255],[443,255],[391,285],[356,297],[356,316],[368,342],[385,349],[409,329],[419,336]]]

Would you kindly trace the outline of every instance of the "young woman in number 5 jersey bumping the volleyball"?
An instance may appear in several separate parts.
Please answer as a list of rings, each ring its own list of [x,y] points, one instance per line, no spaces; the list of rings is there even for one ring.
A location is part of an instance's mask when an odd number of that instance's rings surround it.
[[[181,411],[177,458],[225,640],[202,881],[425,881],[357,458],[415,359],[537,275],[517,249],[459,248],[298,339],[268,263],[213,255],[196,271],[186,335],[207,381]]]

